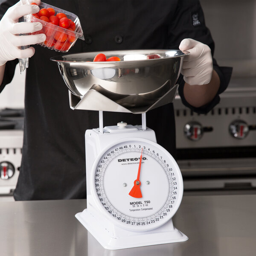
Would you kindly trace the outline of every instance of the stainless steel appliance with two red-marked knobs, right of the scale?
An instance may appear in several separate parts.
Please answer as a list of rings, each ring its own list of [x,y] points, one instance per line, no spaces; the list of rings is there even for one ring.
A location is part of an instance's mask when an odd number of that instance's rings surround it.
[[[256,79],[233,78],[207,114],[176,96],[177,159],[184,190],[256,189]]]

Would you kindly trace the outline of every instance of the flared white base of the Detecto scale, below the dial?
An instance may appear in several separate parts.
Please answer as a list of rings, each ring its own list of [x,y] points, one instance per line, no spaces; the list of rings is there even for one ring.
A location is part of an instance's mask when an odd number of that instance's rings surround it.
[[[109,250],[188,240],[186,235],[173,226],[172,219],[154,230],[134,232],[116,227],[107,218],[99,216],[94,209],[84,209],[76,214],[76,218],[105,249]]]

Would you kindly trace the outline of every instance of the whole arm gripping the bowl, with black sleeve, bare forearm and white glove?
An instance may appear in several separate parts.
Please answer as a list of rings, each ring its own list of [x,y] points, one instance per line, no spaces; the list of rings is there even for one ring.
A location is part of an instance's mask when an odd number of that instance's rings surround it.
[[[168,32],[169,49],[179,47],[182,51],[190,52],[184,58],[183,76],[177,81],[180,98],[192,111],[208,113],[220,101],[219,94],[227,88],[232,68],[219,67],[213,58],[215,44],[205,24],[200,2],[177,1]],[[181,47],[182,42],[186,44]]]

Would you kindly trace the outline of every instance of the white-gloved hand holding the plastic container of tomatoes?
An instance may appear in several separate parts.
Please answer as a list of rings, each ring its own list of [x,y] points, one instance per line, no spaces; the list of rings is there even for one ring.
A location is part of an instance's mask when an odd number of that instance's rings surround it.
[[[38,35],[19,35],[32,33],[42,29],[40,22],[20,22],[18,19],[23,15],[39,12],[37,5],[20,5],[20,2],[10,7],[3,18],[0,20],[0,65],[15,58],[29,58],[35,53],[33,47],[20,49],[20,46],[38,44],[44,42],[46,36]]]

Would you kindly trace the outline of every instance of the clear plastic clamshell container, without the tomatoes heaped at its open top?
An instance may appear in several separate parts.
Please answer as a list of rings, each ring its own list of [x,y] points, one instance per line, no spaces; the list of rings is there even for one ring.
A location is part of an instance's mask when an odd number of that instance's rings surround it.
[[[75,14],[42,2],[40,3],[39,7],[40,9],[54,9],[54,16],[56,16],[60,12],[64,13],[68,19],[72,20],[76,24],[75,31],[71,31],[69,29],[64,29],[60,26],[38,19],[34,15],[31,15],[31,22],[40,22],[43,25],[43,28],[41,30],[33,32],[32,34],[36,35],[43,33],[46,35],[46,41],[40,43],[39,45],[47,47],[49,49],[53,49],[57,52],[68,52],[68,50],[76,43],[77,38],[84,40],[80,20]]]

